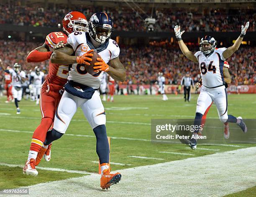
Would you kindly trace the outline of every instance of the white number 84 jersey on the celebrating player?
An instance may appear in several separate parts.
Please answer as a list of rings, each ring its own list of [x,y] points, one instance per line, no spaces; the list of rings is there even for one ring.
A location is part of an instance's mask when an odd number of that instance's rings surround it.
[[[223,67],[225,61],[223,51],[225,50],[226,48],[215,49],[208,57],[202,51],[195,53],[200,65],[202,84],[205,87],[214,88],[223,85]]]

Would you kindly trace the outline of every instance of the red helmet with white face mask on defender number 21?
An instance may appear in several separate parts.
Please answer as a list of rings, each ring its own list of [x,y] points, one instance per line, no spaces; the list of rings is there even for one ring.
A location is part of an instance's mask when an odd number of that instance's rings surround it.
[[[75,31],[88,31],[88,21],[83,13],[72,11],[62,20],[63,31],[67,34]]]

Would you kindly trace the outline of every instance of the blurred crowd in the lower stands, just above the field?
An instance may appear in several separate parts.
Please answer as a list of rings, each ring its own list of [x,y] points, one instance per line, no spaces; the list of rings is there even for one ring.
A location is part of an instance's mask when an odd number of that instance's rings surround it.
[[[39,66],[47,74],[48,61],[41,63],[27,63],[27,54],[40,46],[40,43],[23,41],[0,40],[0,58],[5,66],[13,66],[15,62],[22,65],[23,70]],[[197,63],[187,59],[178,46],[169,43],[150,44],[148,46],[120,46],[120,61],[127,69],[127,82],[129,84],[150,84],[157,81],[158,72],[163,72],[166,84],[180,84],[182,77],[189,72],[197,82],[200,79],[200,69]],[[198,46],[189,46],[196,52]],[[256,84],[255,53],[256,47],[243,47],[227,61],[230,64],[232,84]],[[0,75],[3,71],[0,70]],[[1,77],[0,77],[1,78]]]

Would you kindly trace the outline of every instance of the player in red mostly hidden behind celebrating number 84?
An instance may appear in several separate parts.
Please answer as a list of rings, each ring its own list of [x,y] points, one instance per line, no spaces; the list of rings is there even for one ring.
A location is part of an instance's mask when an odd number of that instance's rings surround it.
[[[225,81],[225,88],[228,88],[228,84],[230,84],[230,82],[231,82],[231,77],[230,77],[230,73],[229,73],[228,69],[229,69],[229,64],[228,64],[227,61],[224,61],[223,77],[224,77],[224,81]],[[195,84],[196,90],[199,89],[200,84],[202,84],[202,78],[199,80],[199,82],[197,82],[197,83]],[[212,102],[212,103],[213,103],[213,102]],[[206,116],[207,116],[208,111],[210,110],[210,107],[212,106],[212,103],[211,103],[211,105],[207,108],[207,110],[205,111],[204,115],[202,116],[201,125],[205,125]],[[202,135],[202,132],[199,131],[199,134]],[[225,139],[228,139],[228,138],[229,138],[229,135],[230,135],[230,132],[229,132],[229,125],[228,125],[228,122],[226,122],[226,123],[224,123],[224,138],[225,138]]]

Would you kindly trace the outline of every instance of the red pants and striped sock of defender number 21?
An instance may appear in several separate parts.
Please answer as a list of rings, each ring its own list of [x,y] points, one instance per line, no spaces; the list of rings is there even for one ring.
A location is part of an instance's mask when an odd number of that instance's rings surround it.
[[[54,89],[51,85],[44,83],[40,92],[40,108],[42,119],[40,125],[36,128],[33,133],[30,150],[39,152],[41,146],[43,145],[46,133],[51,128],[54,122],[55,110],[58,107],[61,95],[58,91],[53,91]]]

